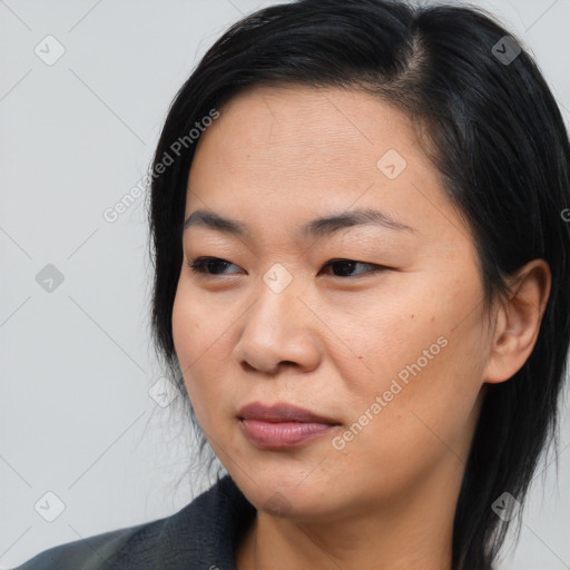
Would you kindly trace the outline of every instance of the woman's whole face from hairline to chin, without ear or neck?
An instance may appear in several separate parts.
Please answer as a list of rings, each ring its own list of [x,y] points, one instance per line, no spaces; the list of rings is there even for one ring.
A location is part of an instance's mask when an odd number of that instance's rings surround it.
[[[491,333],[473,239],[406,116],[250,89],[199,140],[193,214],[175,347],[248,500],[331,520],[459,490]]]

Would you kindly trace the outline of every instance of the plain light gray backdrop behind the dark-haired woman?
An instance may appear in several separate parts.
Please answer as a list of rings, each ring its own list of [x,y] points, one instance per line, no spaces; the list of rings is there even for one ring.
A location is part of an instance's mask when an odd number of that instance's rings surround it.
[[[0,568],[166,517],[208,485],[199,473],[176,485],[190,461],[187,424],[148,394],[161,374],[144,197],[115,223],[102,213],[145,174],[199,57],[273,3],[0,0]],[[473,3],[527,42],[568,120],[570,0]],[[51,66],[35,52],[48,57],[49,35],[65,48]],[[36,281],[47,264],[65,278],[51,293]],[[566,402],[559,484],[556,463],[535,478],[504,570],[570,569]],[[48,491],[65,503],[53,522],[35,510]]]

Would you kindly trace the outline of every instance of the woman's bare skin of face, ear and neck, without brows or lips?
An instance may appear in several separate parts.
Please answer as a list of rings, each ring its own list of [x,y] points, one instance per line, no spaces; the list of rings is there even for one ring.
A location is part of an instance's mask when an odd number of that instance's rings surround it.
[[[389,149],[407,163],[394,179],[376,166]],[[413,230],[295,235],[314,218],[357,207]],[[548,265],[524,266],[511,302],[493,305],[488,318],[473,238],[409,119],[360,91],[256,87],[232,99],[196,150],[186,216],[197,209],[249,230],[186,229],[173,309],[197,419],[258,510],[238,570],[450,569],[484,386],[510,379],[530,355]],[[229,265],[194,273],[187,263],[199,256]],[[335,258],[363,265],[342,276],[327,265]],[[281,293],[263,279],[275,263],[293,278]],[[441,337],[439,354],[335,449],[333,438]],[[262,450],[237,417],[254,401],[341,425],[298,448]]]

